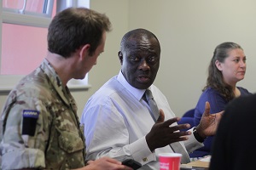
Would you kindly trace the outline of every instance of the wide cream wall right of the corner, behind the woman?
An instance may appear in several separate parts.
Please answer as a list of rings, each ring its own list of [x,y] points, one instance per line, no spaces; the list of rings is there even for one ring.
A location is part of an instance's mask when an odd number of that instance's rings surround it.
[[[207,79],[207,66],[221,42],[241,44],[247,75],[238,85],[256,92],[256,1],[130,0],[129,26],[147,28],[160,39],[160,71],[155,84],[172,111],[195,107]]]

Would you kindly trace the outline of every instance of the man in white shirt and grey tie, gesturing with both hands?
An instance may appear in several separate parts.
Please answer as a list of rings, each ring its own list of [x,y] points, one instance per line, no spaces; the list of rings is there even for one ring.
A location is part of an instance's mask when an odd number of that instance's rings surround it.
[[[202,141],[215,133],[221,113],[210,115],[207,104],[198,127],[178,131],[189,124],[177,125],[180,118],[172,112],[165,95],[153,85],[160,66],[157,37],[150,31],[136,29],[127,32],[120,45],[119,75],[91,96],[81,117],[86,159],[102,156],[119,161],[133,159],[143,165],[140,169],[159,169],[158,154],[176,152],[179,147],[179,152],[183,151],[183,163],[189,162],[187,150],[200,148]],[[151,90],[160,109],[156,121],[143,99],[146,89]]]

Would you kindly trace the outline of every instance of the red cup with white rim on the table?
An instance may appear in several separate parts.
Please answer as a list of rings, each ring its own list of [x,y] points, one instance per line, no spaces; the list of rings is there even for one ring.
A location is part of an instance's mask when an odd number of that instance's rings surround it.
[[[179,170],[181,156],[178,153],[160,153],[160,170]]]

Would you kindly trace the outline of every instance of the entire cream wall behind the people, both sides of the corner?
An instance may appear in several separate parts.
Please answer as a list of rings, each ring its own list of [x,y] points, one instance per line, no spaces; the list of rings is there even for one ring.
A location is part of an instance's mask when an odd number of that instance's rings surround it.
[[[239,82],[256,92],[256,1],[254,0],[91,0],[90,8],[108,15],[113,31],[105,52],[90,71],[92,88],[72,92],[79,115],[91,94],[119,71],[119,42],[126,31],[143,27],[159,38],[162,53],[155,80],[177,116],[195,107],[207,79],[213,49],[221,42],[241,44],[247,55],[247,75]],[[0,93],[0,109],[6,99]]]

